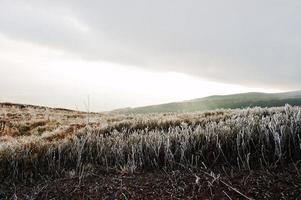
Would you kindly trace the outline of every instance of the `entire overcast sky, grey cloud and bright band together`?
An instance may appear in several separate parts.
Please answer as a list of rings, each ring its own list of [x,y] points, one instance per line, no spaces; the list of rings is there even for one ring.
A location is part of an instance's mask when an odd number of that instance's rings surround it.
[[[105,111],[301,89],[298,0],[0,0],[0,102]]]

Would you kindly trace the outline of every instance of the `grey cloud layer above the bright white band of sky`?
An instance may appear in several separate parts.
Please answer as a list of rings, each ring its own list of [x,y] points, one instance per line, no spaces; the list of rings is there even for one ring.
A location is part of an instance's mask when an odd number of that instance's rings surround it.
[[[301,87],[301,2],[0,1],[0,33],[151,70]]]

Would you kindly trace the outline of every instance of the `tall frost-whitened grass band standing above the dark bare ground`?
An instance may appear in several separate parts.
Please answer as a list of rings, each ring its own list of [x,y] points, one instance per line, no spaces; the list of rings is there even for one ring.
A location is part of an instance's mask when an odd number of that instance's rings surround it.
[[[75,132],[61,132],[61,123],[40,135],[0,137],[1,178],[180,166],[251,170],[298,167],[301,160],[300,107],[95,115],[91,120]]]

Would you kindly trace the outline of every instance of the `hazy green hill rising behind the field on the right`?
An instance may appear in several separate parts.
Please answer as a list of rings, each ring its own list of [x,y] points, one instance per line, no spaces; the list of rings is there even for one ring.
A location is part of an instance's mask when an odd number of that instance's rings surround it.
[[[232,95],[215,95],[137,108],[125,108],[112,111],[113,113],[160,113],[160,112],[195,112],[220,108],[245,107],[274,107],[285,104],[301,105],[301,91],[285,93],[241,93]]]

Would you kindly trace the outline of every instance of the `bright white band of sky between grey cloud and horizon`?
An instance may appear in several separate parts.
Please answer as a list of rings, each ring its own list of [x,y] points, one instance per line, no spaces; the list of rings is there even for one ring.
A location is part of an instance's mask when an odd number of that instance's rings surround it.
[[[0,101],[93,111],[216,94],[278,92],[202,80],[175,72],[84,60],[62,50],[0,35]]]

